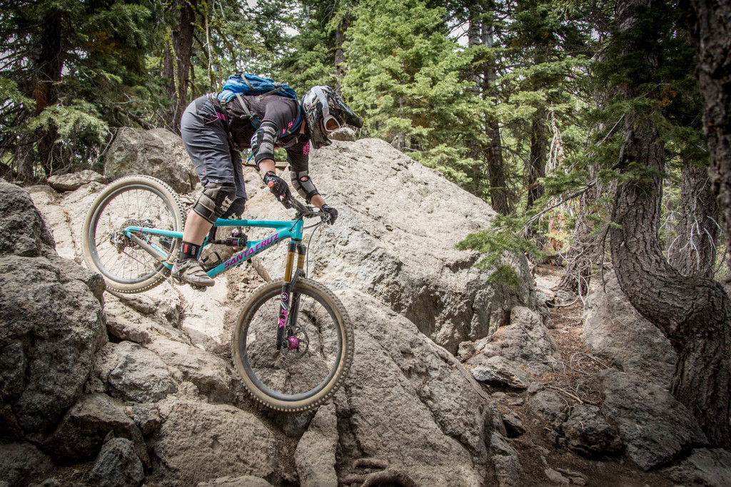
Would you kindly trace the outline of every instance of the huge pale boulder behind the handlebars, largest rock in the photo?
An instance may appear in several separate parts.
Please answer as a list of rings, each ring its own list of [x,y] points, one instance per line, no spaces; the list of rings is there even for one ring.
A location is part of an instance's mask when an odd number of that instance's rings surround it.
[[[537,307],[523,256],[510,261],[521,279],[512,288],[488,283],[490,272],[474,267],[480,253],[455,250],[490,225],[495,212],[481,199],[381,140],[336,141],[310,158],[314,183],[339,212],[311,253],[315,279],[388,303],[452,353],[507,324],[513,307]],[[246,213],[292,217],[266,191],[249,200]],[[280,245],[262,254],[269,275],[281,275],[284,253]]]

